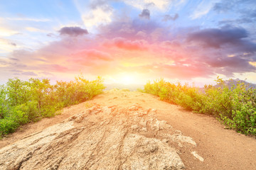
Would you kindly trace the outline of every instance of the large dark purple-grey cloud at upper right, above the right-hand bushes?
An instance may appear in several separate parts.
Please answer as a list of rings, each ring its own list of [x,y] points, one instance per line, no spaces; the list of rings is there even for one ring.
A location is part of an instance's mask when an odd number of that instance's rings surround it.
[[[203,47],[220,48],[222,45],[242,45],[242,38],[247,38],[244,28],[209,28],[188,35],[189,42],[199,42]]]

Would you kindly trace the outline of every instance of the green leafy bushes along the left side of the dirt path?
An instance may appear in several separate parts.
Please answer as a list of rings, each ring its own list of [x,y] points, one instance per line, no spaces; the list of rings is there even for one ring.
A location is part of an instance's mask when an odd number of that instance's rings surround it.
[[[49,79],[9,79],[0,86],[0,137],[19,125],[52,117],[60,108],[90,100],[103,89],[101,77],[88,81],[80,75],[75,81],[55,85]]]

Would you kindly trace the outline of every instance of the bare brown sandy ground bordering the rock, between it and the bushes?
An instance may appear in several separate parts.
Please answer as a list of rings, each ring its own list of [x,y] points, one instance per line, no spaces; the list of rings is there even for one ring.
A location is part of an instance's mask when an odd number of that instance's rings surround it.
[[[60,123],[71,115],[80,113],[93,106],[132,106],[137,103],[142,108],[155,108],[159,120],[166,120],[183,135],[192,137],[197,143],[197,152],[204,161],[191,157],[186,147],[181,148],[181,157],[186,169],[256,169],[255,137],[240,135],[234,130],[225,129],[218,120],[208,115],[184,111],[151,94],[129,91],[105,91],[91,101],[64,108],[62,114],[45,118],[38,123],[23,125],[17,132],[0,141],[0,148],[20,140],[26,135],[38,132],[51,125]]]

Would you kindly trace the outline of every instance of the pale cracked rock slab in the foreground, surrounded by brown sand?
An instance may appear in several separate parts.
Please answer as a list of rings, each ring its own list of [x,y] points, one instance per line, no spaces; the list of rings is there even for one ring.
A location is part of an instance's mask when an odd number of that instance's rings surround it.
[[[174,146],[196,147],[156,110],[92,106],[0,149],[0,169],[184,169]]]

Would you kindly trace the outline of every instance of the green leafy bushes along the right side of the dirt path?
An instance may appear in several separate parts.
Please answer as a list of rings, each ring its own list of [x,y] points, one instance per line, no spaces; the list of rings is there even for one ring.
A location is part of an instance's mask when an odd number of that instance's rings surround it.
[[[216,82],[218,87],[205,86],[203,93],[187,84],[181,86],[160,79],[153,84],[148,81],[140,91],[155,94],[161,100],[178,104],[188,111],[214,115],[238,132],[256,135],[256,90],[243,83],[229,88],[219,78]]]

